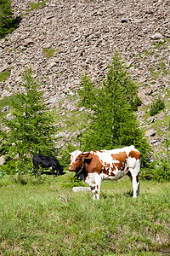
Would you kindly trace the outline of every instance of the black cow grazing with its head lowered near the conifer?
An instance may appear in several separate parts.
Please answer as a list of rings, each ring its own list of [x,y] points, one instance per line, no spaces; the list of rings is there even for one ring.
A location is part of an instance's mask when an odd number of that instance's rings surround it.
[[[63,166],[60,166],[59,160],[57,160],[54,156],[44,156],[41,154],[37,154],[33,156],[32,163],[35,172],[35,177],[37,177],[37,171],[39,169],[39,166],[41,166],[42,168],[52,167],[52,173],[54,177],[59,176],[63,172]]]

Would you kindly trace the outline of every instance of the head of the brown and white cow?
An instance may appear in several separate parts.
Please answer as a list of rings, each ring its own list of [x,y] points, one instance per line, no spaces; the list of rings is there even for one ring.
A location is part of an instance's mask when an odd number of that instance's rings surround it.
[[[78,179],[84,179],[84,174],[85,174],[85,169],[86,169],[85,162],[86,162],[89,154],[90,154],[90,152],[81,153],[81,154],[78,154],[74,160],[71,160],[71,165],[69,166],[69,171],[76,172]]]

